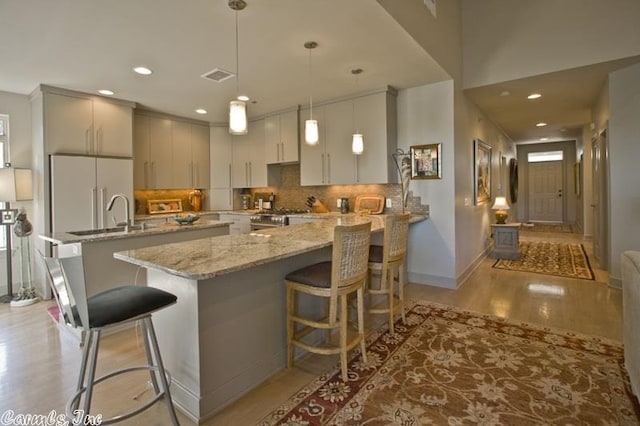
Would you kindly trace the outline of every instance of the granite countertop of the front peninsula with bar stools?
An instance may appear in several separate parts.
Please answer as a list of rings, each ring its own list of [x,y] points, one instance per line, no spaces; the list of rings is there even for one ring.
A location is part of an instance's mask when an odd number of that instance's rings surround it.
[[[370,221],[372,232],[384,228],[384,215],[322,216],[326,220],[268,228],[250,234],[222,235],[120,251],[114,253],[114,257],[179,277],[205,280],[328,247],[333,244],[333,229],[336,225]],[[413,215],[411,223],[425,219],[426,216]]]

